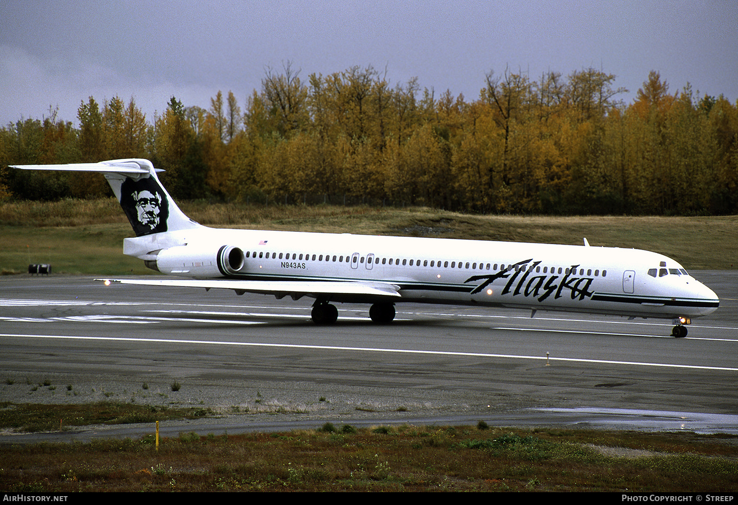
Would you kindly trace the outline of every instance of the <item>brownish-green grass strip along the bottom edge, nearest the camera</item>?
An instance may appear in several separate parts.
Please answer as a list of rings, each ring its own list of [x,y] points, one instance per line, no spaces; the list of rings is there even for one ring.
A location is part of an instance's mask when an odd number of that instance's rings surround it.
[[[180,434],[0,447],[6,492],[735,492],[734,439],[475,427]],[[627,449],[624,449],[627,448]]]

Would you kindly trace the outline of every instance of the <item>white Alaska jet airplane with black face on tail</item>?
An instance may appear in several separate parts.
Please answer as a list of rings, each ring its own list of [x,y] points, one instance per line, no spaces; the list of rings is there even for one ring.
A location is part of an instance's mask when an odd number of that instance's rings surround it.
[[[123,253],[180,278],[99,279],[106,284],[232,289],[314,298],[311,319],[335,323],[334,303],[370,305],[374,323],[390,323],[401,302],[653,317],[686,337],[692,318],[714,312],[717,295],[665,255],[620,247],[451,238],[225,230],[184,215],[148,159],[25,170],[99,172],[135,237]]]

